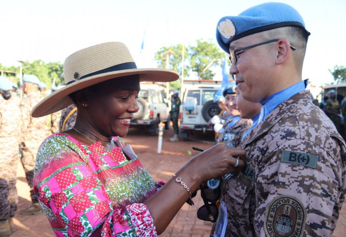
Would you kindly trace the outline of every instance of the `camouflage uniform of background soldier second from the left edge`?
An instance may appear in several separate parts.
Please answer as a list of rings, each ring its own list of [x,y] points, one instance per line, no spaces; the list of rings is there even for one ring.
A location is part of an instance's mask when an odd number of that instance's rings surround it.
[[[21,162],[25,171],[26,179],[30,186],[30,197],[32,202],[37,203],[37,197],[33,191],[33,175],[37,151],[43,140],[51,135],[48,126],[49,119],[47,116],[41,118],[31,117],[31,110],[41,101],[38,94],[31,94],[23,98],[19,108],[22,114],[23,126],[20,136],[20,148],[22,150]]]

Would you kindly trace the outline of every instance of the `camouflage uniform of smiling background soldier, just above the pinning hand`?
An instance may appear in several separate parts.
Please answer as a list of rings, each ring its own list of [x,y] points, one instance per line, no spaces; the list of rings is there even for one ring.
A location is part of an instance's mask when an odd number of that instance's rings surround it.
[[[238,147],[244,133],[249,130],[253,124],[252,119],[241,118],[233,126],[227,128],[228,124],[231,123],[232,120],[233,119],[230,119],[227,124],[223,126],[223,129],[220,130],[216,143],[223,143],[228,146]]]

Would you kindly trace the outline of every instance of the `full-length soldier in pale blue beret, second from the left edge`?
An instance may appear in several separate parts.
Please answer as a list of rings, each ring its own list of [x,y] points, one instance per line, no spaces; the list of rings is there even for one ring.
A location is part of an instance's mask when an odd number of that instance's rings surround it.
[[[25,95],[19,105],[23,120],[19,146],[22,150],[21,162],[30,186],[32,204],[20,210],[20,214],[22,215],[42,213],[39,200],[33,191],[33,176],[36,154],[42,141],[51,134],[51,131],[48,126],[49,119],[47,116],[42,118],[31,117],[31,110],[42,99],[38,92],[39,84],[40,80],[35,75],[24,75],[22,90]]]

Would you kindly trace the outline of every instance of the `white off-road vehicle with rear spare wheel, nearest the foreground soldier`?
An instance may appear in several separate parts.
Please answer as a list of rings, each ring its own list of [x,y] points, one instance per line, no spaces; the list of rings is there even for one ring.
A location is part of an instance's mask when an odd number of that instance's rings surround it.
[[[215,93],[221,82],[215,80],[185,80],[180,106],[180,136],[187,138],[196,132],[214,132],[207,123],[220,113],[214,103]]]

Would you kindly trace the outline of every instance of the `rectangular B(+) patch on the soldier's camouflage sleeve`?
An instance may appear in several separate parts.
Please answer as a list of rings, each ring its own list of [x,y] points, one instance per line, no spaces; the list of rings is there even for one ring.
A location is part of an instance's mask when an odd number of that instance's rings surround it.
[[[281,162],[304,165],[313,169],[317,166],[317,160],[317,156],[307,153],[282,151],[281,154]]]

